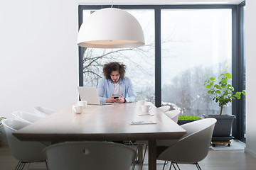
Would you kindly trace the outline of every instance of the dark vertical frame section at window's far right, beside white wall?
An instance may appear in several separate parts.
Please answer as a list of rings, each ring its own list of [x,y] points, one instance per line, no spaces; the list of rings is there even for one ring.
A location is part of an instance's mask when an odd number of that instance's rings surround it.
[[[244,56],[244,41],[243,41],[243,22],[244,22],[244,13],[242,8],[245,6],[245,1],[242,1],[238,6],[236,6],[233,13],[233,22],[235,29],[235,35],[233,35],[233,57],[232,57],[232,73],[233,79],[232,84],[235,88],[235,91],[245,90],[245,56]],[[232,114],[236,116],[233,127],[232,134],[235,139],[239,139],[242,142],[246,142],[244,137],[245,134],[245,96],[241,96],[240,101],[232,101]]]

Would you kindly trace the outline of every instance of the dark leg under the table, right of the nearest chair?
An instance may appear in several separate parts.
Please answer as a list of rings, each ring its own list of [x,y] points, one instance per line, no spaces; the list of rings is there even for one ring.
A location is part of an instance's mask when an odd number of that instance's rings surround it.
[[[156,170],[156,140],[149,140],[149,170]]]

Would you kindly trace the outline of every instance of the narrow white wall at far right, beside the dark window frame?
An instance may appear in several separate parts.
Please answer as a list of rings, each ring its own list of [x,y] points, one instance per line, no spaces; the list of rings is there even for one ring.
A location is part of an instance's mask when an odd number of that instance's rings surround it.
[[[246,148],[256,157],[256,1],[247,0],[245,7],[245,56],[246,56]]]

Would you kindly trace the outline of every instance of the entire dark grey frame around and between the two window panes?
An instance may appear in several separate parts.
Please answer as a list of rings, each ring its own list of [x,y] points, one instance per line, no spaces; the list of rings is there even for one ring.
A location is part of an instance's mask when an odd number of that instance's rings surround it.
[[[244,79],[244,56],[243,42],[241,37],[242,31],[242,6],[245,6],[245,1],[238,5],[230,4],[215,4],[215,5],[114,5],[114,8],[121,9],[154,9],[155,13],[155,105],[161,106],[161,9],[232,9],[232,84],[236,91],[245,89],[243,85]],[[83,10],[98,10],[100,8],[110,8],[111,5],[79,5],[78,6],[78,28],[82,25]],[[82,47],[79,47],[79,86],[83,86],[83,62],[82,62]],[[238,100],[234,100],[232,104],[232,114],[237,118],[233,123],[233,136],[235,139],[245,142],[243,137],[244,130],[244,108],[245,105]]]

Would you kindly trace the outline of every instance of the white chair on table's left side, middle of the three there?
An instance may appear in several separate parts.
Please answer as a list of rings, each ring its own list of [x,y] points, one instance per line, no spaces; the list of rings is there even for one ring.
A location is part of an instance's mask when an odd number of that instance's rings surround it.
[[[12,113],[14,117],[18,120],[22,120],[26,123],[35,123],[42,118],[46,118],[46,115],[35,115],[33,113],[23,112],[23,111],[14,111]]]

